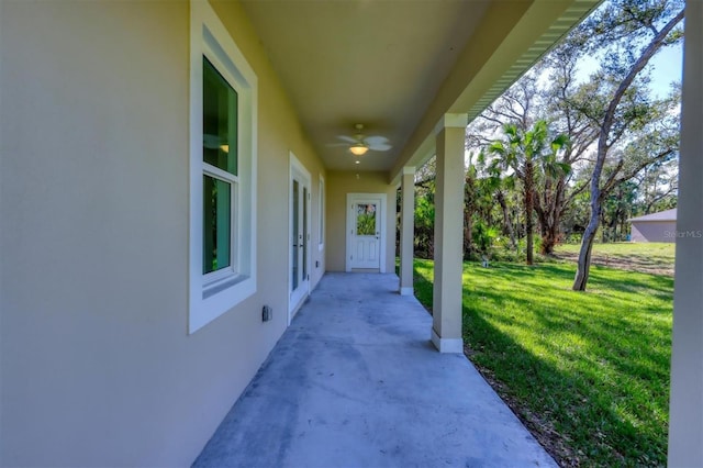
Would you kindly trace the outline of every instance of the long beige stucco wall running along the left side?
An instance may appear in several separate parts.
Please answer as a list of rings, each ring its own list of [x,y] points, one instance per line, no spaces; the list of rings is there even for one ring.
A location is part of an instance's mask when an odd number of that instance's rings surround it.
[[[258,291],[189,336],[188,2],[1,8],[0,466],[189,465],[286,327],[289,151],[315,246],[319,160],[217,3],[259,79]]]

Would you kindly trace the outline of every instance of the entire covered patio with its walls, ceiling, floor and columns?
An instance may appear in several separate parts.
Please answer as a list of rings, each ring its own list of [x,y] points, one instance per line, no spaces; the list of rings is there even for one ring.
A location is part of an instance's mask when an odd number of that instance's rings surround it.
[[[465,137],[599,3],[0,0],[0,466],[553,465],[461,354]],[[685,15],[669,465],[703,466]]]

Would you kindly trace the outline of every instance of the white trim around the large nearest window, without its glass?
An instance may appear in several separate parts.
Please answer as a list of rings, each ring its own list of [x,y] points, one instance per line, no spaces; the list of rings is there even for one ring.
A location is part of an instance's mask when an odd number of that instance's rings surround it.
[[[202,274],[202,57],[237,91],[238,172],[233,200],[233,268]],[[190,245],[188,333],[194,333],[256,292],[257,77],[204,0],[190,2]]]

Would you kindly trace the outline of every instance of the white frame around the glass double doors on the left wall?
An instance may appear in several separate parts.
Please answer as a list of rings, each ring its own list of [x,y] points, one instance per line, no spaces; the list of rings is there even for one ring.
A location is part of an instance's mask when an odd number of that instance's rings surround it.
[[[303,303],[305,298],[310,294],[310,268],[312,261],[312,250],[311,250],[311,227],[312,227],[312,177],[310,171],[305,169],[305,166],[295,157],[292,152],[289,152],[290,155],[290,170],[288,176],[288,324],[290,325],[295,312],[300,309],[300,305]],[[293,237],[293,179],[298,179],[302,186],[308,189],[308,199],[303,201],[306,207],[308,220],[306,232],[308,238],[303,239],[306,244],[308,248],[305,249],[305,258],[304,261],[308,265],[308,274],[306,278],[303,278],[300,285],[298,286],[298,290],[293,291],[293,255],[295,255],[295,247],[291,244],[291,239]],[[300,192],[302,197],[302,189]],[[299,266],[301,268],[301,266]],[[298,292],[293,296],[293,292]]]

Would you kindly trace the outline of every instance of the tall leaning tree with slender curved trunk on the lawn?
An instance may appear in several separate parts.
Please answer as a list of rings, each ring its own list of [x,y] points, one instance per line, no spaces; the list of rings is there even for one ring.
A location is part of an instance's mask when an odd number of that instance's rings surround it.
[[[590,181],[590,219],[581,241],[573,290],[585,290],[591,265],[591,252],[601,221],[605,198],[623,180],[634,177],[647,165],[636,165],[625,172],[624,154],[605,171],[607,156],[625,142],[632,156],[637,149],[651,151],[649,159],[663,159],[676,152],[671,134],[656,124],[656,107],[649,105],[646,75],[643,70],[661,47],[682,37],[678,25],[684,10],[678,0],[612,0],[592,14],[570,36],[571,49],[601,53],[601,70],[588,83],[588,99],[572,101],[573,109],[582,112],[598,125],[598,149]],[[641,134],[649,140],[649,148],[633,140],[631,131],[650,127],[654,134]],[[629,136],[629,137],[628,137]],[[661,141],[657,141],[661,140]],[[605,174],[607,172],[607,174]],[[605,176],[605,177],[604,177]],[[604,179],[604,180],[603,180]]]

